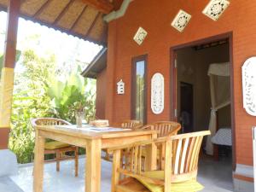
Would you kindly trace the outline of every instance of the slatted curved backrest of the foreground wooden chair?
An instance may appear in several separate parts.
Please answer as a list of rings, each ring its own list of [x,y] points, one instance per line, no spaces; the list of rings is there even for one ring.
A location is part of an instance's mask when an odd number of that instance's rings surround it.
[[[143,158],[142,150],[145,145],[162,145],[165,152],[165,159],[161,160],[164,166],[158,167],[159,171],[162,170],[165,173],[164,180],[148,178],[149,183],[158,183],[165,185],[165,183],[178,183],[194,179],[197,176],[198,159],[201,149],[201,143],[204,136],[210,135],[210,131],[199,131],[187,134],[180,134],[171,137],[160,137],[154,141],[146,141],[141,143],[133,143],[118,148],[110,148],[113,150],[113,165],[119,166],[121,156],[120,150],[129,148],[130,153],[130,166],[114,167],[113,170],[121,173],[125,176],[145,179],[145,172],[143,171]],[[119,158],[117,158],[119,157]],[[168,174],[170,172],[171,174]],[[167,173],[167,174],[166,174]],[[168,190],[169,191],[169,190]],[[170,190],[171,191],[171,190]]]

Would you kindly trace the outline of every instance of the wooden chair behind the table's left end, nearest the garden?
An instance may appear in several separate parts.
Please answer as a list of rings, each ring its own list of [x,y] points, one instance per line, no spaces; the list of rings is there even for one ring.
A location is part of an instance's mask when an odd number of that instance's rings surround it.
[[[37,125],[71,125],[65,120],[55,118],[38,118],[32,119],[32,127],[35,128]],[[74,152],[74,156],[66,155],[67,152]],[[44,145],[44,154],[55,154],[54,160],[56,161],[56,171],[60,172],[60,161],[61,160],[75,160],[75,177],[79,175],[79,147],[72,146],[67,143],[61,143],[57,141],[46,141]]]

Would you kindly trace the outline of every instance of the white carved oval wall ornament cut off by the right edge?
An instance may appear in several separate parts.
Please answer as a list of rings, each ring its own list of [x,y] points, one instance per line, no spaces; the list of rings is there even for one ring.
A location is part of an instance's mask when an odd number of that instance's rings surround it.
[[[256,116],[256,56],[245,61],[242,71],[243,108]]]

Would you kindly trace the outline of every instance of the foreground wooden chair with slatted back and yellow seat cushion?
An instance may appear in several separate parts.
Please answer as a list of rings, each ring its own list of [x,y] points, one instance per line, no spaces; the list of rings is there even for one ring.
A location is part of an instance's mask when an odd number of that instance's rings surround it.
[[[204,136],[210,131],[160,137],[154,141],[109,148],[113,152],[112,192],[195,192],[203,189],[196,181],[198,159]],[[156,171],[143,171],[142,150],[145,145],[160,144],[165,148],[165,160]],[[130,148],[130,166],[122,166],[121,151]],[[120,179],[121,176],[125,178]]]

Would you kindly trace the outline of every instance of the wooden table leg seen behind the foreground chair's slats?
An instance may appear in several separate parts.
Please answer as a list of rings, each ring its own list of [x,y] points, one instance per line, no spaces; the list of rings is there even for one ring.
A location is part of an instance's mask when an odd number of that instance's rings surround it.
[[[152,136],[153,139],[157,138],[157,134]],[[154,143],[146,146],[146,157],[145,157],[145,171],[156,170],[157,165],[157,147]]]

